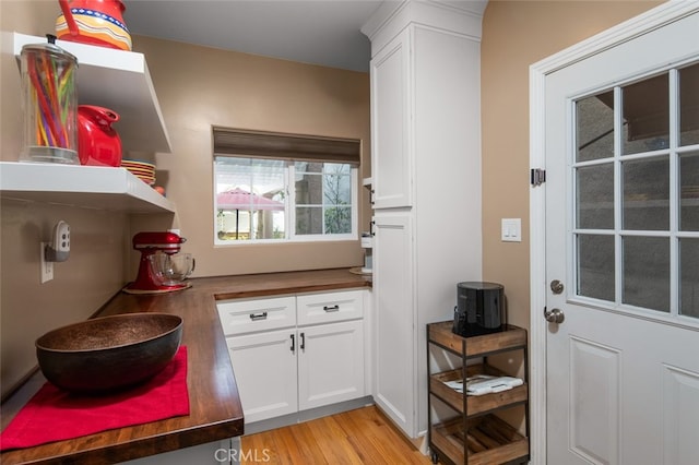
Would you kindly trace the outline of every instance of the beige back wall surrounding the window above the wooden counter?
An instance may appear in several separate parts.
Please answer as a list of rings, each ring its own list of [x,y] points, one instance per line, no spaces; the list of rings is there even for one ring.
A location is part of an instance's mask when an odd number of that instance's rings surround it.
[[[360,176],[370,172],[369,75],[259,56],[134,37],[147,57],[173,147],[158,176],[177,205],[176,227],[197,275],[356,266],[358,241],[214,247],[211,126],[359,139]],[[360,183],[360,179],[358,180]],[[359,230],[370,210],[360,189]]]

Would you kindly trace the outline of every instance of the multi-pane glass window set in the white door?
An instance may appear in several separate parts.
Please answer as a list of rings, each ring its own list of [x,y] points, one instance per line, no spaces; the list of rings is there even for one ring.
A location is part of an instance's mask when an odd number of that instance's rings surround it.
[[[578,296],[699,319],[698,82],[694,63],[574,102]]]

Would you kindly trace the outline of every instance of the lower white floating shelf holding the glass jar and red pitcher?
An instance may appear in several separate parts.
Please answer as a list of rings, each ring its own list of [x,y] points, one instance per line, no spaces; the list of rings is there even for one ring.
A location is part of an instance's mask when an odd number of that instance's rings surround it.
[[[126,168],[0,162],[0,195],[127,213],[174,213],[175,204]]]

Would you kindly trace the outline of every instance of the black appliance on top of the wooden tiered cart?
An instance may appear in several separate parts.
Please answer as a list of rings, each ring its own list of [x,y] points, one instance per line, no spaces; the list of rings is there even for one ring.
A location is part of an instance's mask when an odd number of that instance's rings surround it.
[[[457,307],[452,332],[478,336],[505,331],[505,287],[497,283],[467,282],[457,285]]]

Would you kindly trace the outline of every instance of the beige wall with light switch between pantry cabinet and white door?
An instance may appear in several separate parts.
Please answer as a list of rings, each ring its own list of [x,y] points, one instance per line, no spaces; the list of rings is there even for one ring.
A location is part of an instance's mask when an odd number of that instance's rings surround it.
[[[530,318],[529,67],[659,3],[490,1],[485,10],[483,277],[505,285],[513,324],[529,327]],[[500,241],[501,218],[522,218],[522,242]]]

